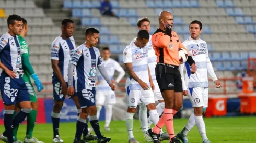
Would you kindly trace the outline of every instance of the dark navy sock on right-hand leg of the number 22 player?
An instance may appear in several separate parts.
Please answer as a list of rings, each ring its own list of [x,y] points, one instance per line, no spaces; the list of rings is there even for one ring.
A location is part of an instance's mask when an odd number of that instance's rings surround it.
[[[15,128],[18,126],[22,121],[25,120],[25,118],[28,116],[28,114],[32,111],[32,109],[24,109],[22,108],[13,119],[13,127]]]

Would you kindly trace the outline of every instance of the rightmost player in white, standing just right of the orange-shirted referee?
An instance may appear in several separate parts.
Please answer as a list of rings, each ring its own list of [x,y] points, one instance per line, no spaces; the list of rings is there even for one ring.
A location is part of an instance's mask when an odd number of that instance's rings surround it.
[[[177,134],[178,138],[183,143],[188,143],[187,134],[194,127],[197,126],[202,137],[203,143],[210,143],[205,131],[205,124],[203,120],[203,112],[208,106],[208,77],[209,74],[216,84],[217,88],[221,87],[218,81],[212,63],[208,56],[207,44],[200,39],[203,25],[200,21],[194,20],[189,25],[190,37],[182,44],[187,47],[193,59],[195,60],[197,71],[195,74],[190,73],[188,63],[185,63],[187,74],[184,82],[184,64],[181,64],[179,69],[182,77],[183,93],[189,95],[194,113],[191,114],[187,125]],[[188,88],[187,88],[188,87]],[[187,90],[188,89],[188,90]]]

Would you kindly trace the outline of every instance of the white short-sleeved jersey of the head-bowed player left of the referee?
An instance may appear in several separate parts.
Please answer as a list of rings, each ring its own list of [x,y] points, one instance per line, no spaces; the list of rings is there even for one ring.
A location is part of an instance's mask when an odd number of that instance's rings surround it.
[[[148,76],[148,49],[147,46],[139,48],[135,45],[134,42],[131,42],[130,45],[126,46],[123,52],[123,61],[124,63],[132,63],[132,68],[135,74],[143,82],[149,85],[149,76]],[[132,77],[129,77],[125,83],[126,87],[130,90],[142,89],[142,87],[136,82]]]

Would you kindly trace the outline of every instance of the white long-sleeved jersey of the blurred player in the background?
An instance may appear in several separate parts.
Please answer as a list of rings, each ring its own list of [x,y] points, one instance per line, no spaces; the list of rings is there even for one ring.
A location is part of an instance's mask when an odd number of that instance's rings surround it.
[[[106,71],[109,75],[109,79],[113,80],[115,70],[117,70],[119,72],[119,76],[117,77],[117,79],[115,79],[115,81],[117,83],[119,83],[125,74],[125,72],[124,72],[123,68],[120,66],[120,64],[111,58],[109,58],[106,61],[104,59],[102,59],[102,64],[104,65],[104,68],[106,69]],[[100,82],[100,84],[97,85],[97,89],[100,91],[111,90],[111,87],[109,86],[107,81],[103,78],[103,76],[100,74],[99,70],[97,70],[97,75],[98,75],[98,81]]]

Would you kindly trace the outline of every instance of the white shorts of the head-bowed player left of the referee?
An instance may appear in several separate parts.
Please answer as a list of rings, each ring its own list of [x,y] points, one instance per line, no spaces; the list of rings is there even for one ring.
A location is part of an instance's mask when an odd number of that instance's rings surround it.
[[[149,90],[127,90],[127,95],[128,107],[130,108],[136,108],[137,105],[141,104],[148,105],[151,103],[155,103],[154,93],[151,88]]]

